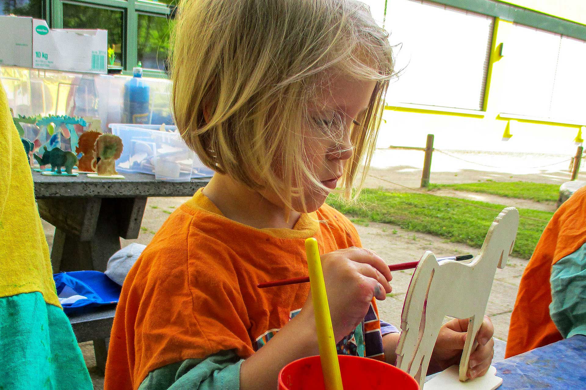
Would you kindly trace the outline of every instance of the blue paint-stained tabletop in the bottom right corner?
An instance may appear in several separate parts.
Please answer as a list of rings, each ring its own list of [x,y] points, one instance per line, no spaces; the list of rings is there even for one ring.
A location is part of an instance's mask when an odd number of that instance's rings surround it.
[[[574,336],[493,364],[498,390],[586,389],[586,336]]]

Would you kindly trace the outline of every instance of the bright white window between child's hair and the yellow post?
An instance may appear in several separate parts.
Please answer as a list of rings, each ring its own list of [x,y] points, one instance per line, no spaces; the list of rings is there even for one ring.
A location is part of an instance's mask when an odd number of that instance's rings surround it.
[[[494,19],[428,1],[387,2],[396,70],[387,101],[482,109]]]

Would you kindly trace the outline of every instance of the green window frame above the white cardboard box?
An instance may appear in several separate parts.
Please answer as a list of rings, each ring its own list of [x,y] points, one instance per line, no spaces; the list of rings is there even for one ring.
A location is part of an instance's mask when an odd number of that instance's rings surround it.
[[[50,27],[63,28],[63,4],[75,4],[88,7],[106,8],[121,11],[122,20],[122,74],[132,74],[132,68],[138,64],[138,14],[168,17],[172,8],[166,4],[147,0],[46,0],[46,15]],[[145,69],[143,75],[148,77],[167,77],[164,71]]]

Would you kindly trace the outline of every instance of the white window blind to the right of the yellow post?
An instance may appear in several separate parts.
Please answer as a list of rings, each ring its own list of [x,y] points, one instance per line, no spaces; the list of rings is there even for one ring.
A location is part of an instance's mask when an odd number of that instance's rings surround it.
[[[586,42],[515,24],[505,45],[502,112],[586,120]]]

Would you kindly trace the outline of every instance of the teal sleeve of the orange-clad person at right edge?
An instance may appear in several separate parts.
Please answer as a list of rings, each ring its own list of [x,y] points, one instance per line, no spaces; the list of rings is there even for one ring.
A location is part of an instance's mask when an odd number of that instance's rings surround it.
[[[561,336],[586,336],[586,243],[551,268],[550,316]]]

